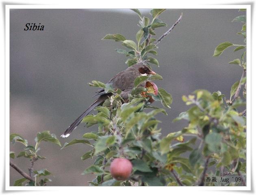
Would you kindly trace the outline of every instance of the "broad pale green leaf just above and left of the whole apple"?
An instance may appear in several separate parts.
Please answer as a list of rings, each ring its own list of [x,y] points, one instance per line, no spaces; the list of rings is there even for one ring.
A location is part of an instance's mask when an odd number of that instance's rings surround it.
[[[98,154],[99,152],[106,150],[108,147],[114,145],[115,143],[116,137],[114,135],[99,137],[98,140],[94,143],[94,154]]]

